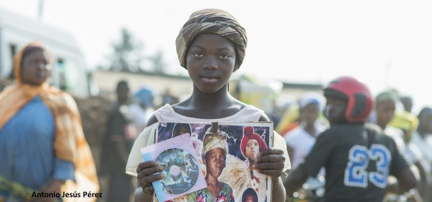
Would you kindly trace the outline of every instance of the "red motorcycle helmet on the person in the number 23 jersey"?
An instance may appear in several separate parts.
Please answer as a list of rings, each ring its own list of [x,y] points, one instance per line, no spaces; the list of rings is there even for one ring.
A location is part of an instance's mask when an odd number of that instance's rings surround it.
[[[365,122],[374,104],[369,89],[357,79],[349,76],[331,81],[324,89],[324,96],[347,101],[345,118],[348,123]]]

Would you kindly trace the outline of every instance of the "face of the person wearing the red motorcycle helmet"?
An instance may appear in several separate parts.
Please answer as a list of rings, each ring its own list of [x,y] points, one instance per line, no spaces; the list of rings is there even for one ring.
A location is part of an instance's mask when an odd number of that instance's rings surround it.
[[[346,121],[345,109],[347,102],[341,99],[328,97],[325,105],[325,117],[330,124],[341,124]]]

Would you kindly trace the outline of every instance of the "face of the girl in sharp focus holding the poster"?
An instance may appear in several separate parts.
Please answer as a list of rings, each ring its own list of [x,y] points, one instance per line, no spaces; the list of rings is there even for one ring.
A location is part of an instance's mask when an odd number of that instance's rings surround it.
[[[224,87],[234,71],[235,63],[235,45],[217,34],[196,36],[186,56],[189,76],[203,93],[215,93]]]

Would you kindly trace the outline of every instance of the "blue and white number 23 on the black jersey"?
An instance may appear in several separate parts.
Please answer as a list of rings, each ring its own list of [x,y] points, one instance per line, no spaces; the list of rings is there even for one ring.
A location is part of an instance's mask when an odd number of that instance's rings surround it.
[[[349,162],[345,168],[344,184],[366,188],[369,180],[377,187],[386,188],[391,158],[389,149],[382,144],[372,144],[370,149],[354,145],[350,149]],[[366,170],[370,160],[376,162],[374,171]]]

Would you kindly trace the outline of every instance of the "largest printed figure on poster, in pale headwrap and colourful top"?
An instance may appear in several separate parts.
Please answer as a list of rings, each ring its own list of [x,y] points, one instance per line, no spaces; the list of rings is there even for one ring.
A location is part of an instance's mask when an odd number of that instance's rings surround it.
[[[213,123],[209,132],[204,136],[201,152],[201,158],[206,167],[207,188],[197,191],[196,196],[189,195],[189,202],[234,202],[231,186],[218,179],[226,166],[227,154],[227,137],[221,135],[217,123]]]

